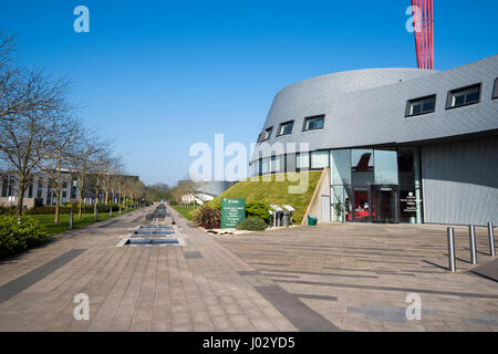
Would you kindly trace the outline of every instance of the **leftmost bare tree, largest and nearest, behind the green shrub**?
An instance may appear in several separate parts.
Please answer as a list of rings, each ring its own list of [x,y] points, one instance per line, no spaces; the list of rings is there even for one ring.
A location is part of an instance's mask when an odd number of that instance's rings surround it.
[[[21,215],[29,178],[58,134],[53,117],[69,108],[69,84],[39,70],[12,67],[12,41],[0,37],[0,158],[17,175]]]

